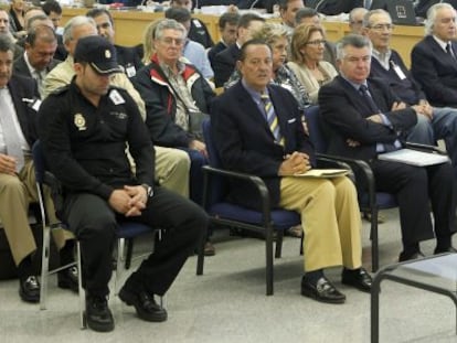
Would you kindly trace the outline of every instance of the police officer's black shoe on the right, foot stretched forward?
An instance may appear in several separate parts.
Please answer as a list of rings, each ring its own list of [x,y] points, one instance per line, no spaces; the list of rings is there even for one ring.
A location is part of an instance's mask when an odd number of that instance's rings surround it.
[[[119,299],[128,306],[134,306],[138,317],[148,322],[164,322],[168,318],[166,309],[158,306],[153,296],[145,291],[132,292],[123,287]]]

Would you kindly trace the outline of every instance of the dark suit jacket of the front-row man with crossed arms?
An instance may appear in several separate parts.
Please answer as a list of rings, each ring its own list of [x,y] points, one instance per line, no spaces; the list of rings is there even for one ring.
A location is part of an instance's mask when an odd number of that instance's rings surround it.
[[[328,141],[328,153],[371,160],[376,157],[376,143],[393,143],[402,140],[402,132],[417,122],[414,109],[391,111],[398,100],[379,79],[370,79],[369,90],[378,108],[391,121],[386,127],[366,120],[373,115],[359,92],[341,76],[323,85],[319,90],[320,116]],[[349,147],[347,139],[360,142]]]

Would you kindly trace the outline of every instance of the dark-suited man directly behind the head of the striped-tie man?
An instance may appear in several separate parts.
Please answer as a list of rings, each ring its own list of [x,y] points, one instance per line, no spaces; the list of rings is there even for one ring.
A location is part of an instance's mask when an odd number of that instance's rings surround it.
[[[215,55],[213,60],[214,84],[222,87],[235,69],[236,61],[240,57],[240,50],[244,42],[247,42],[253,32],[257,31],[264,24],[265,19],[255,13],[246,13],[240,18],[236,29],[237,37],[235,44],[232,44],[223,52]]]

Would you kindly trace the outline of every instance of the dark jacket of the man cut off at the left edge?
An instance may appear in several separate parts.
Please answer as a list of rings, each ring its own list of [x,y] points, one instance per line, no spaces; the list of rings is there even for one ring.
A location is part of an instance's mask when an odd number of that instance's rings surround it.
[[[32,101],[40,99],[36,82],[33,78],[21,75],[12,75],[8,83],[11,98],[14,105],[22,133],[30,148],[38,139],[36,110],[32,108]]]

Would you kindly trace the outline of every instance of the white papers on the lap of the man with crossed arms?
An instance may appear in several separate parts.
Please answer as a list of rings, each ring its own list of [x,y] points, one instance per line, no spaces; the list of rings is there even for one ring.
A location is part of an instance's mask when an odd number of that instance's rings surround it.
[[[400,149],[392,152],[380,153],[379,160],[403,162],[411,165],[425,167],[449,162],[445,154],[424,152],[413,149]]]

